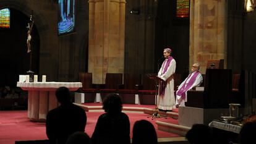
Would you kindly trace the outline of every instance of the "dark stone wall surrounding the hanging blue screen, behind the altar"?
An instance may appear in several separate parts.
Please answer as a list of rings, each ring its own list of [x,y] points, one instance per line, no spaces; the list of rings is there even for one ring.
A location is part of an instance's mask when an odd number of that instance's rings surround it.
[[[11,7],[33,18],[40,37],[38,75],[47,75],[48,81],[77,81],[78,72],[87,69],[88,2],[76,2],[76,31],[58,36],[58,1],[0,0],[0,8]]]

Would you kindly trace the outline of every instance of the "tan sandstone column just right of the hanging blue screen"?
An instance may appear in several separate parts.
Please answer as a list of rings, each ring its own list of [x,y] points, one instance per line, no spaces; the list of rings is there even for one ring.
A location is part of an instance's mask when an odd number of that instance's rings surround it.
[[[106,73],[124,72],[125,0],[89,1],[88,72],[93,83],[105,83]]]

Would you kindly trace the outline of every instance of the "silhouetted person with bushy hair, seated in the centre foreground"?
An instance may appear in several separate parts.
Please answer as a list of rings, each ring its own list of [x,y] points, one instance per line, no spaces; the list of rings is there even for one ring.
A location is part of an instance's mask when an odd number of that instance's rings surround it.
[[[98,117],[92,135],[93,144],[130,144],[129,117],[122,112],[122,101],[116,93],[103,100],[104,114]]]

